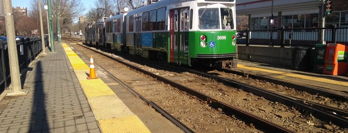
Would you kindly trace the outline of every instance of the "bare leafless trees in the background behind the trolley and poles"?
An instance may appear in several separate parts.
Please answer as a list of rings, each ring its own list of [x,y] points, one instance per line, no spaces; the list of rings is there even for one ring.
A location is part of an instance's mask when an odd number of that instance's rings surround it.
[[[41,13],[43,20],[44,34],[48,34],[47,27],[47,11],[44,5],[47,0],[40,0]],[[58,3],[58,7],[56,6]],[[59,16],[60,33],[84,32],[84,27],[89,23],[97,21],[101,17],[109,17],[116,15],[117,12],[123,11],[124,7],[129,9],[137,8],[142,5],[142,0],[95,0],[91,2],[92,7],[87,8],[81,0],[51,0],[52,7],[52,26],[53,32],[57,33],[57,11]],[[83,12],[87,13],[83,14]],[[17,16],[16,16],[17,15]],[[38,0],[31,0],[27,15],[14,14],[14,28],[18,36],[40,36],[40,15]],[[82,20],[81,20],[82,19]],[[247,28],[247,16],[237,16],[237,30],[245,30]],[[5,33],[5,23],[0,23],[0,31]],[[36,34],[32,34],[32,30],[38,30]]]

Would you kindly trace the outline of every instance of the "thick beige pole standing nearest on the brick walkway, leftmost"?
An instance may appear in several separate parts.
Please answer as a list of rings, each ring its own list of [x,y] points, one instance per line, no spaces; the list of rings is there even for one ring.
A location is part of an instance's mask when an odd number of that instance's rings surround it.
[[[9,70],[11,76],[10,91],[7,95],[24,95],[22,86],[20,83],[19,65],[18,65],[18,52],[14,32],[14,21],[11,0],[3,0],[6,32],[7,32],[7,45],[8,45],[8,60]]]

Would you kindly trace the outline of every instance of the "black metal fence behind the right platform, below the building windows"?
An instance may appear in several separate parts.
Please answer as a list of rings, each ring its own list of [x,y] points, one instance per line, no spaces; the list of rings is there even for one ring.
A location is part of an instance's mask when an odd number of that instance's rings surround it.
[[[303,28],[267,29],[237,31],[239,46],[272,47],[315,47],[322,44],[322,33],[326,43],[348,45],[348,27],[343,28]]]

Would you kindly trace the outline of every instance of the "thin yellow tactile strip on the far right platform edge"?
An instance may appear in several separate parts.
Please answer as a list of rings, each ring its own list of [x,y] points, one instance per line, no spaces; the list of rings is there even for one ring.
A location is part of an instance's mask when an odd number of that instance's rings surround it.
[[[280,76],[279,78],[284,78],[286,76],[291,76],[291,77],[297,77],[297,78],[302,78],[302,79],[312,80],[312,81],[318,81],[318,82],[323,82],[323,83],[331,83],[331,84],[337,84],[337,85],[342,85],[342,86],[348,86],[348,82],[338,81],[338,80],[334,80],[334,79],[328,79],[328,78],[322,78],[322,77],[316,77],[316,76],[309,76],[309,75],[303,75],[303,74],[297,74],[297,73],[291,73],[291,72],[284,72],[284,71],[278,71],[278,70],[272,70],[272,69],[265,69],[265,68],[259,68],[259,67],[248,67],[248,66],[244,66],[244,65],[240,65],[240,64],[237,64],[237,67],[284,75],[284,76]]]

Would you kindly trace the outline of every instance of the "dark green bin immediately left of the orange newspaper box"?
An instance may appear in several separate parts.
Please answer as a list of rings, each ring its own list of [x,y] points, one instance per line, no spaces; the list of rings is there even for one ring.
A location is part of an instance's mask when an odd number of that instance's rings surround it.
[[[313,59],[313,72],[323,73],[325,64],[326,44],[316,44]]]

